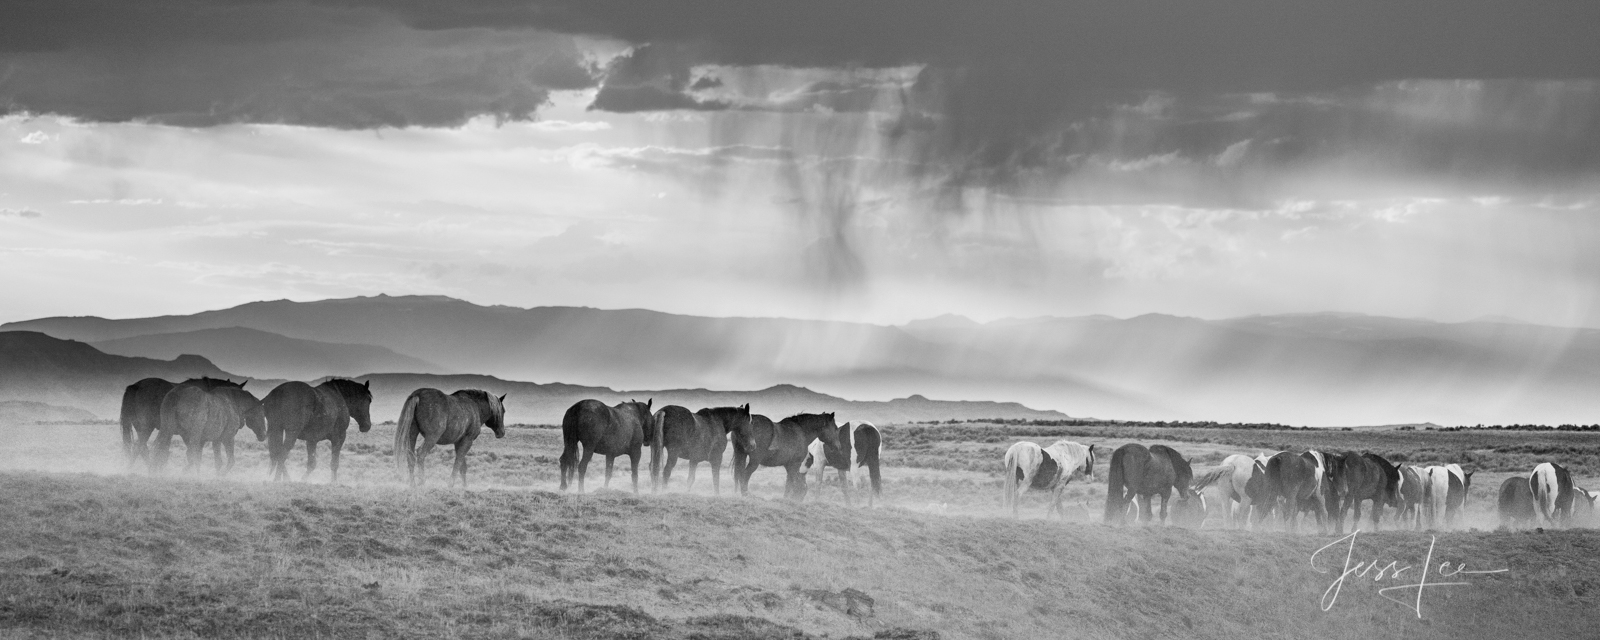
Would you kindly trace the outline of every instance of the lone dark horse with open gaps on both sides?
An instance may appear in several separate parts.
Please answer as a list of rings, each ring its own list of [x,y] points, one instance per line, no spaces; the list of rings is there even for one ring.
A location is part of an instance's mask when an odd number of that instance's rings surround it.
[[[480,389],[462,389],[450,395],[438,389],[413,390],[395,422],[395,469],[405,474],[408,485],[422,486],[427,480],[427,454],[435,445],[454,445],[456,464],[450,469],[450,486],[456,486],[459,475],[461,488],[467,488],[467,451],[485,426],[496,438],[506,437],[504,395],[496,398]],[[416,446],[419,437],[422,446]]]

